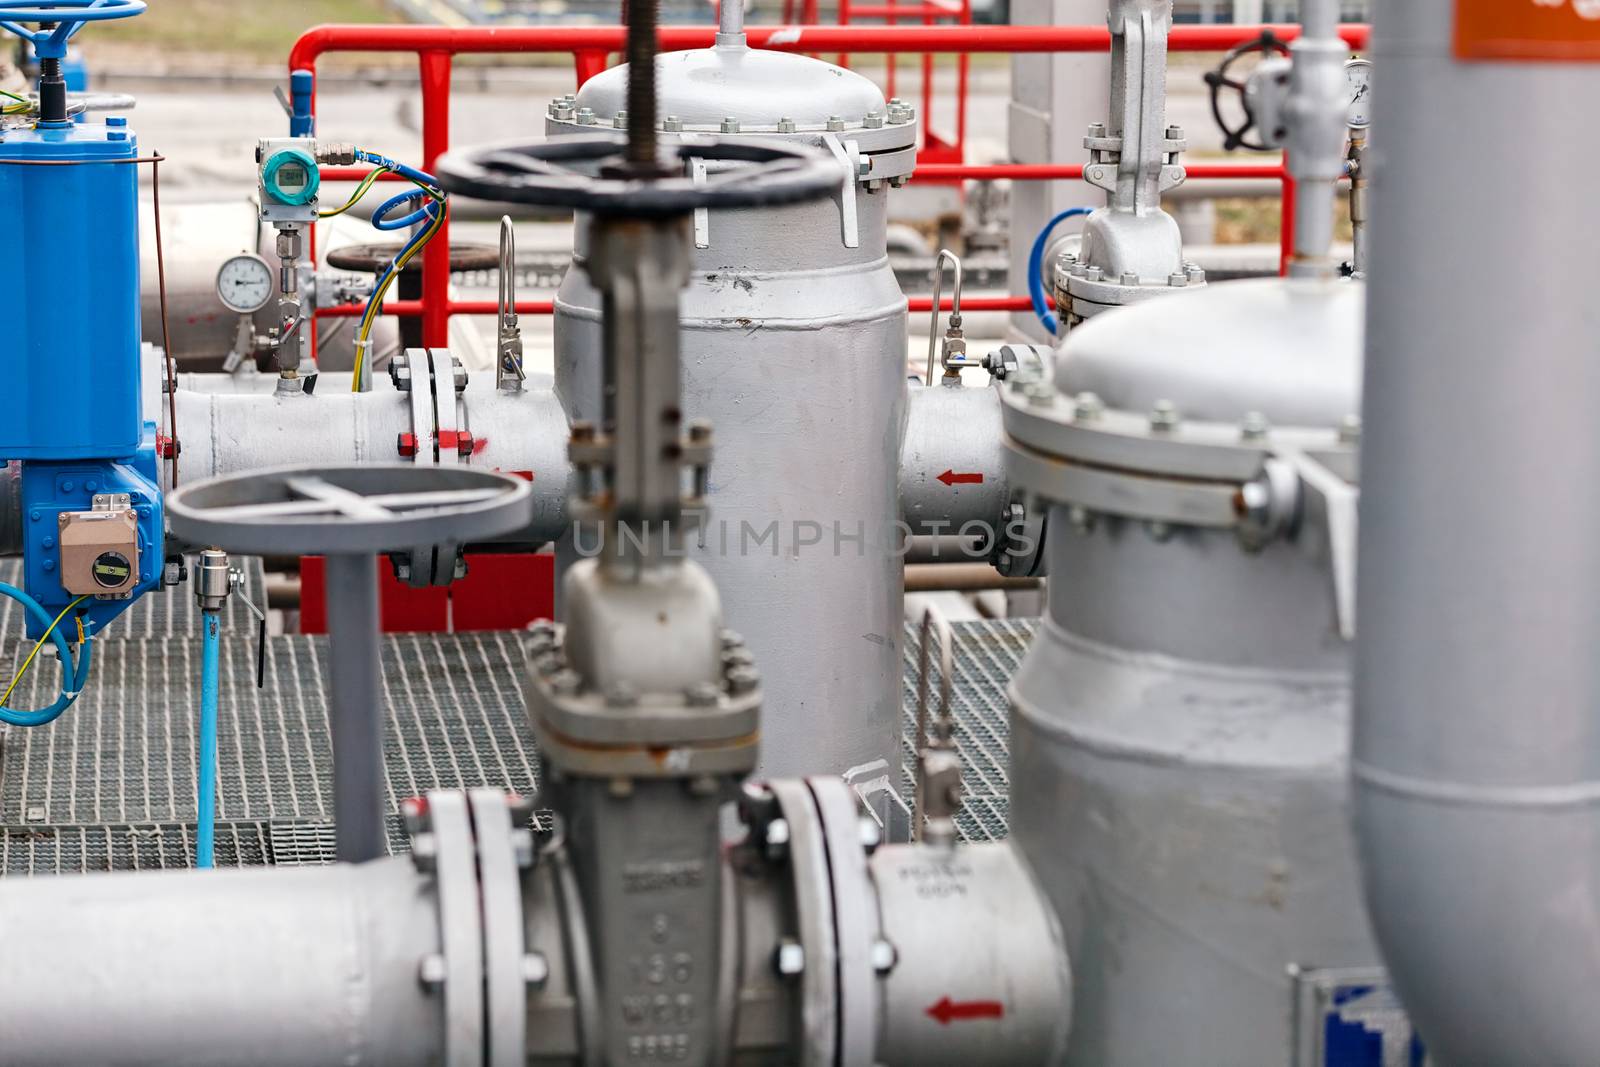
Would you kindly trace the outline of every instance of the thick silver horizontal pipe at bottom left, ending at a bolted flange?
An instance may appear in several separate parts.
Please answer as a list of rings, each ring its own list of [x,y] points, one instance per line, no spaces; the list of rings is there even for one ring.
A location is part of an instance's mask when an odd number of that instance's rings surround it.
[[[434,894],[360,867],[0,880],[6,1067],[405,1067],[443,1059]]]

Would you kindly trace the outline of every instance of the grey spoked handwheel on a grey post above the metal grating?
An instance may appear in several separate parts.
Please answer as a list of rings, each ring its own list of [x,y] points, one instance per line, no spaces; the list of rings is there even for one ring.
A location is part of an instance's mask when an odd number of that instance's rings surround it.
[[[186,485],[173,534],[248,555],[371,555],[469,544],[533,523],[533,486],[470,467],[278,467]]]

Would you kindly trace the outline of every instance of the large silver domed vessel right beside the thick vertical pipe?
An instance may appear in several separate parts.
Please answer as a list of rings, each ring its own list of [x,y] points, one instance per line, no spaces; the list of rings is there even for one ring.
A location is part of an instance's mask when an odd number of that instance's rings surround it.
[[[1011,688],[1011,833],[1062,918],[1069,1062],[1304,1062],[1291,968],[1379,963],[1349,830],[1330,523],[1280,458],[1339,451],[1360,323],[1350,283],[1227,283],[1098,317],[1059,357],[1069,451],[1090,435],[1126,448],[1117,462],[1173,462],[1122,478],[1128,494],[1102,498],[1117,504],[1050,498],[1048,617]],[[1251,541],[1229,525],[1227,477],[1194,525],[1141,517],[1168,485],[1203,486],[1206,464],[1245,472],[1237,486],[1272,466],[1304,517]]]

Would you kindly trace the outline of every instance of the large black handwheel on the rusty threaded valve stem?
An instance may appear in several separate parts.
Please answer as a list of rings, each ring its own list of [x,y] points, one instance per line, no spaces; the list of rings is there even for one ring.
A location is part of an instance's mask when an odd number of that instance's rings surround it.
[[[662,146],[669,176],[640,178],[627,173],[622,146],[621,136],[594,136],[462,149],[445,154],[437,174],[464,197],[635,218],[821,200],[845,181],[843,166],[814,149],[715,139]],[[742,166],[690,178],[690,160]]]

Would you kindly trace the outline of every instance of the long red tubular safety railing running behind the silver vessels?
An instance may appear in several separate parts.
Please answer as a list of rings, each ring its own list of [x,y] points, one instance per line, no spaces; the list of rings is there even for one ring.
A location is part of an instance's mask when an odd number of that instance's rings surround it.
[[[1173,51],[1226,51],[1254,40],[1262,29],[1272,29],[1282,40],[1294,40],[1298,26],[1174,26],[1168,46]],[[1346,43],[1365,50],[1366,26],[1341,29]],[[667,27],[659,40],[664,51],[709,48],[715,29]],[[1110,32],[1098,26],[750,26],[746,27],[752,48],[774,48],[798,53],[862,53],[862,54],[957,54],[970,53],[1098,53],[1110,50]],[[422,85],[422,168],[432,170],[450,149],[450,74],[458,54],[546,53],[570,54],[582,85],[605,70],[610,58],[622,51],[626,30],[621,26],[517,26],[517,27],[445,27],[445,26],[318,26],[294,43],[290,70],[315,74],[317,61],[328,53],[416,53]],[[317,98],[312,90],[312,114]],[[926,109],[923,109],[926,118]],[[1277,181],[1290,192],[1291,178],[1283,163],[1189,163],[1190,179],[1261,178]],[[358,181],[362,168],[326,168],[325,181]],[[1064,181],[1083,176],[1080,165],[1038,166],[997,163],[973,166],[963,162],[930,163],[917,168],[914,181]],[[1293,200],[1283,197],[1283,246],[1293,235]],[[931,310],[930,299],[912,299],[912,312]],[[949,299],[944,301],[949,307]],[[970,310],[1027,310],[1026,296],[973,298],[962,301]],[[422,341],[446,346],[451,315],[491,315],[493,301],[450,299],[450,227],[446,226],[422,253],[422,299],[390,301],[389,315],[421,315]],[[518,301],[517,312],[549,315],[552,301]],[[322,309],[320,315],[358,315],[360,307]]]

